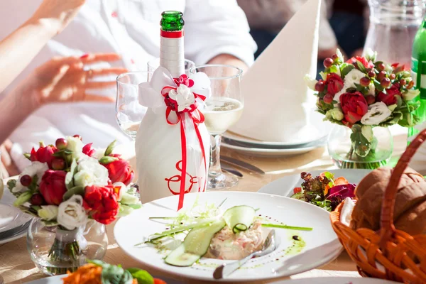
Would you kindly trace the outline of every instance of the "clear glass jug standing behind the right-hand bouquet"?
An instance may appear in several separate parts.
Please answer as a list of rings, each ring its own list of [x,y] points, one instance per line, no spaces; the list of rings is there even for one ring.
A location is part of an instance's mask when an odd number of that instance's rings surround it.
[[[364,45],[378,60],[411,65],[411,47],[425,14],[425,0],[368,0],[370,26]]]

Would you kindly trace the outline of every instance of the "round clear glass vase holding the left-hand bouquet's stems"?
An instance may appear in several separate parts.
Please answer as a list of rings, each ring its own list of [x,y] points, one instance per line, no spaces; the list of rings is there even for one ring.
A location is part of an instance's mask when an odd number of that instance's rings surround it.
[[[35,218],[28,228],[27,249],[31,260],[47,275],[76,271],[87,259],[102,260],[107,246],[105,225],[93,220],[67,230],[62,226],[46,226]]]

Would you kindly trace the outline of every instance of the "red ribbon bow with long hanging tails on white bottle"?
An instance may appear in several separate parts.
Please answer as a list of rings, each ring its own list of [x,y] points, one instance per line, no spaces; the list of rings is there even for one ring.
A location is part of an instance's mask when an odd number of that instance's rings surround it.
[[[180,191],[179,191],[179,203],[178,203],[178,210],[179,210],[183,206],[184,195],[186,193],[185,183],[186,183],[186,175],[187,175],[187,147],[186,147],[187,138],[186,138],[185,127],[184,127],[185,114],[189,115],[192,121],[192,124],[194,126],[195,133],[197,134],[197,138],[200,143],[202,159],[204,160],[204,170],[207,172],[207,160],[206,160],[206,156],[204,152],[204,143],[202,143],[200,129],[198,128],[198,125],[204,122],[204,115],[197,109],[197,104],[198,104],[197,99],[200,102],[200,99],[204,101],[206,97],[202,96],[201,94],[196,94],[190,91],[190,87],[194,85],[194,81],[189,79],[187,75],[180,75],[179,78],[174,78],[173,81],[175,82],[177,87],[165,86],[161,90],[161,94],[164,97],[164,102],[167,107],[165,110],[165,119],[167,123],[170,125],[175,125],[180,123],[180,143],[182,146],[182,175],[180,179]],[[185,97],[185,94],[180,93],[181,90],[182,92],[185,92],[187,97]],[[172,99],[170,97],[172,92],[174,97],[176,97],[176,99]],[[180,96],[180,99],[177,98],[178,96]],[[182,99],[184,100],[184,102],[182,102]],[[181,101],[181,102],[178,103],[178,101]],[[188,101],[192,103],[188,104],[187,103]],[[172,119],[170,118],[173,112],[176,114],[175,121],[172,121]],[[206,182],[207,182],[207,178],[204,179],[203,188],[206,186]],[[200,191],[200,184],[199,184],[199,191]]]

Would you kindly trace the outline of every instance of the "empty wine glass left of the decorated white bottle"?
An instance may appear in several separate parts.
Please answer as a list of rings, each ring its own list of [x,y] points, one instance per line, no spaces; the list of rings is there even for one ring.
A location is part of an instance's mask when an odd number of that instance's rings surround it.
[[[117,77],[116,120],[121,130],[133,140],[146,113],[146,107],[139,104],[138,84],[148,82],[151,75],[150,71],[138,71]]]

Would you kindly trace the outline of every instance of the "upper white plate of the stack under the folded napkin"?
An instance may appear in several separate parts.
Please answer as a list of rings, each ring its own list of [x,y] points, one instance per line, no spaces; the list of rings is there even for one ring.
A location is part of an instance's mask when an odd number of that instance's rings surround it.
[[[322,145],[318,145],[318,146],[309,146],[309,147],[292,148],[292,149],[279,149],[279,148],[265,149],[265,148],[248,148],[248,147],[242,147],[242,146],[235,146],[225,142],[222,142],[221,145],[224,146],[225,148],[233,149],[235,151],[239,151],[247,155],[256,155],[261,157],[300,155],[300,154],[315,150],[316,148],[319,148],[322,146]]]

